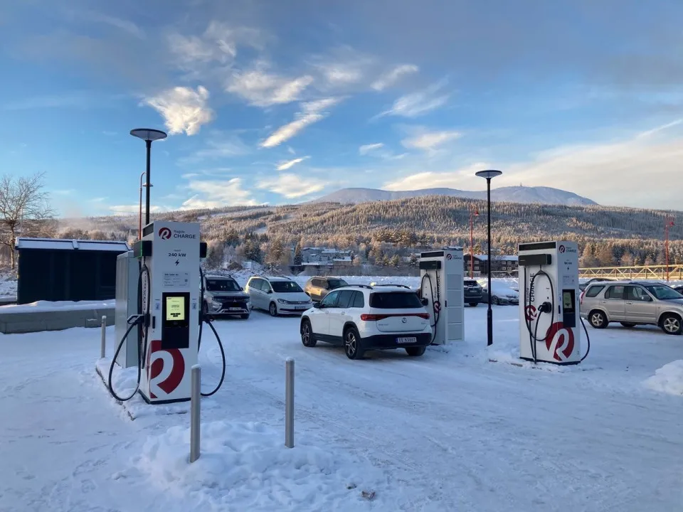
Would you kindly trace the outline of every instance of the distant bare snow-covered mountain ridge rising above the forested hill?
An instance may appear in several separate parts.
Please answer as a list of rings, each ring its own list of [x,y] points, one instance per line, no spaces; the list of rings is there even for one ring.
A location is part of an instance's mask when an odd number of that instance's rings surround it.
[[[383,191],[377,188],[342,188],[322,198],[315,203],[355,204],[369,201],[391,201],[419,196],[453,196],[472,199],[486,199],[486,191],[461,191],[455,188],[423,188],[416,191]],[[578,196],[573,192],[563,191],[551,187],[510,186],[492,188],[492,201],[508,201],[510,203],[543,203],[566,206],[595,205],[595,201]]]

